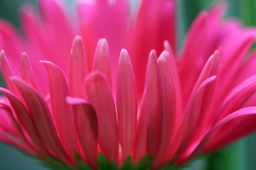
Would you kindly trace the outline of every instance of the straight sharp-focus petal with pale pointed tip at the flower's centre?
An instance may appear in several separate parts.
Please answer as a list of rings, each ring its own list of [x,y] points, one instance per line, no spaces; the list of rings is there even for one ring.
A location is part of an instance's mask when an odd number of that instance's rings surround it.
[[[137,125],[137,91],[131,60],[122,50],[117,69],[117,116],[124,160],[132,151]]]

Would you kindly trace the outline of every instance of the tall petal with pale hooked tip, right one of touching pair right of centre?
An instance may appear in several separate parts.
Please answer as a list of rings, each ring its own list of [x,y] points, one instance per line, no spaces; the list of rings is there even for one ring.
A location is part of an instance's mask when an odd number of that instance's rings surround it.
[[[159,137],[156,147],[156,161],[154,166],[161,164],[164,155],[169,150],[171,137],[174,133],[174,122],[176,118],[176,96],[174,77],[172,77],[164,51],[158,60],[159,77]]]

